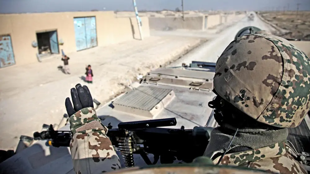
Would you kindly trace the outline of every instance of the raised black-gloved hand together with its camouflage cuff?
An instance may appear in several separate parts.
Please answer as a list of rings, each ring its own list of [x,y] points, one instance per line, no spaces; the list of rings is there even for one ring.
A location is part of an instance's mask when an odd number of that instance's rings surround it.
[[[108,128],[101,123],[96,115],[89,89],[87,86],[82,87],[81,84],[75,85],[75,88],[71,88],[73,107],[69,97],[65,101],[67,113],[70,116],[71,133],[86,133],[87,131],[99,130],[102,134],[105,134]]]

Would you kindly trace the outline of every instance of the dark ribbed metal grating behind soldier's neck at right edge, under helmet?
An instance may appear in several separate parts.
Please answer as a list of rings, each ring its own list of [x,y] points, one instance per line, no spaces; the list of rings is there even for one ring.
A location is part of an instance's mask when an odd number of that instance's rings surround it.
[[[310,154],[310,130],[304,119],[299,126],[289,129],[287,139],[292,142],[298,153],[306,152]]]

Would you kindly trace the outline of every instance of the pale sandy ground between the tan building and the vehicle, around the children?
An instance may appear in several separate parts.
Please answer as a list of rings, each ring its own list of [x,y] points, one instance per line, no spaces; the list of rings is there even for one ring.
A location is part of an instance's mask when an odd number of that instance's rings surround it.
[[[32,136],[43,123],[59,123],[66,113],[64,100],[70,88],[82,80],[85,64],[93,69],[93,84],[88,85],[93,98],[100,102],[120,92],[139,73],[178,58],[184,50],[201,41],[189,37],[148,37],[107,47],[68,54],[70,75],[57,69],[60,58],[26,66],[0,69],[0,149],[14,149],[20,135]]]

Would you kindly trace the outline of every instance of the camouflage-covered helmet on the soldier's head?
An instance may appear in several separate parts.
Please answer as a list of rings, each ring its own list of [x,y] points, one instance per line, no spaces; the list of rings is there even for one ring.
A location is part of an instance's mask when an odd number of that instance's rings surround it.
[[[258,122],[297,127],[309,111],[307,55],[282,37],[248,34],[232,41],[216,62],[214,89]]]

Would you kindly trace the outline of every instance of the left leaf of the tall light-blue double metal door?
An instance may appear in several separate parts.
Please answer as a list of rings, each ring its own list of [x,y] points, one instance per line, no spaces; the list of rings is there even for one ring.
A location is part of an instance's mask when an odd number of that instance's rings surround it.
[[[84,18],[74,18],[74,32],[77,51],[86,49],[86,30]]]

